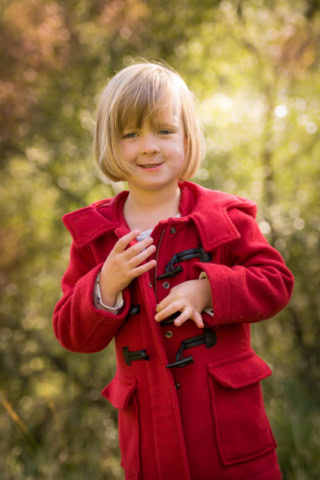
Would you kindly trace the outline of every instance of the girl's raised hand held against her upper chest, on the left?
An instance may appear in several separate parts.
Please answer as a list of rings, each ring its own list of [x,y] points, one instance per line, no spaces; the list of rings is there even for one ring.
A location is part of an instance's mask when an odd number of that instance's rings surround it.
[[[151,237],[127,248],[139,234],[139,230],[133,230],[120,238],[104,262],[100,273],[100,292],[106,305],[113,306],[118,293],[134,278],[156,266],[155,260],[141,265],[156,250]]]

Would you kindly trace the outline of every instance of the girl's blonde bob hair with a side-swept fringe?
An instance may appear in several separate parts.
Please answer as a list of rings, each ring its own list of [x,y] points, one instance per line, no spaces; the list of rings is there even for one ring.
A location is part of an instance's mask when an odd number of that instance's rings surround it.
[[[187,139],[186,157],[179,180],[191,178],[205,154],[194,96],[180,75],[157,63],[137,63],[118,72],[105,87],[99,100],[94,134],[98,167],[111,180],[125,180],[130,166],[120,150],[120,138],[129,120],[138,127],[164,106],[167,94],[175,90],[181,103]]]

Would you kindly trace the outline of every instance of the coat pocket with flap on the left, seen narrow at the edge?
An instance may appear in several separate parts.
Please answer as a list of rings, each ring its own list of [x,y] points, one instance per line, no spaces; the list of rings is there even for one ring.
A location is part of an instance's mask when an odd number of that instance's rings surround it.
[[[141,474],[140,412],[136,388],[135,378],[116,375],[101,392],[118,409],[121,465],[126,480],[138,480]]]

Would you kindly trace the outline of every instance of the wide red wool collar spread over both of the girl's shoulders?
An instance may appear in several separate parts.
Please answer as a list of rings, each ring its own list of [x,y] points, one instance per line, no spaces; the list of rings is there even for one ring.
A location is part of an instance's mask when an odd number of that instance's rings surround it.
[[[179,183],[181,189],[181,218],[177,223],[193,221],[199,232],[201,244],[207,251],[240,238],[228,211],[237,208],[255,217],[256,206],[247,199],[218,190],[210,190],[193,182]],[[123,204],[127,191],[116,197],[93,203],[92,205],[63,216],[63,222],[71,233],[74,244],[81,248],[96,238],[113,231],[120,238],[128,233],[123,218]],[[166,221],[163,221],[166,222]]]

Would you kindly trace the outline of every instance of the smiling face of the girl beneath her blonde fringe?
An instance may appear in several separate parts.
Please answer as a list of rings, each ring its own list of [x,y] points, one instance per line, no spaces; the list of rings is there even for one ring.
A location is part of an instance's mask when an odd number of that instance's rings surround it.
[[[175,92],[168,97],[168,103],[140,128],[128,124],[122,132],[120,148],[131,168],[126,180],[136,193],[177,185],[184,166],[187,141],[180,98]]]

